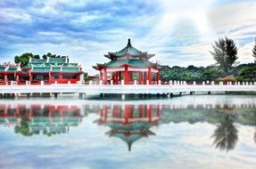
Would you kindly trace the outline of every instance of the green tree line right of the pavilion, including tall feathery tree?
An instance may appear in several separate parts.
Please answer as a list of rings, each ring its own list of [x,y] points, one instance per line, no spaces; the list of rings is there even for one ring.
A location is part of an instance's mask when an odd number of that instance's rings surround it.
[[[256,44],[252,48],[253,63],[238,64],[237,47],[234,40],[224,37],[212,44],[210,52],[216,63],[208,67],[187,68],[174,66],[161,71],[162,81],[256,81]]]

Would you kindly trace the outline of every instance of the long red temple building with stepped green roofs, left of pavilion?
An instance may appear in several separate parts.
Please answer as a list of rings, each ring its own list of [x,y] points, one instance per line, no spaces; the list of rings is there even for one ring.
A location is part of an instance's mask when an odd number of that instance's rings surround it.
[[[16,81],[18,83],[75,84],[83,80],[84,72],[78,63],[70,63],[68,56],[60,58],[30,58],[29,64],[21,68],[21,64],[5,63],[0,65],[0,82]]]

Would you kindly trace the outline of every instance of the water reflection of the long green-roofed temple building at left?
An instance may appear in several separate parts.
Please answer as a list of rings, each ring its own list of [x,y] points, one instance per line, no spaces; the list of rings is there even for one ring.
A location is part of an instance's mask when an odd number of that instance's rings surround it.
[[[82,121],[81,109],[77,106],[0,104],[0,125],[14,125],[15,133],[25,136],[43,133],[51,136],[68,133],[70,126]]]

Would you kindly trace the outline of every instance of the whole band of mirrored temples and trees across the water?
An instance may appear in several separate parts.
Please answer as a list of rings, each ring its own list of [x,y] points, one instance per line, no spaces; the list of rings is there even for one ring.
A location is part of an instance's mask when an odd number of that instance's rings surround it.
[[[212,141],[217,149],[232,150],[238,141],[236,124],[256,126],[255,103],[210,104],[187,102],[161,103],[152,101],[6,101],[0,103],[0,125],[12,126],[15,133],[25,136],[68,133],[70,126],[78,126],[87,114],[98,114],[98,125],[110,127],[106,134],[127,142],[154,135],[152,127],[169,123],[210,123],[216,125]],[[67,106],[69,105],[69,106]],[[255,129],[256,131],[256,129]],[[101,132],[101,131],[99,131]],[[256,142],[256,132],[252,133]]]

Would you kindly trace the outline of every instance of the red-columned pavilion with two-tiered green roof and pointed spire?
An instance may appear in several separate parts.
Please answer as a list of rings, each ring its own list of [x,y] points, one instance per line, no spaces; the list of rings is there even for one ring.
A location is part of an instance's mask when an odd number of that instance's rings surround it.
[[[97,64],[93,68],[100,71],[103,84],[108,84],[108,80],[113,84],[120,84],[121,80],[124,80],[125,84],[132,84],[135,80],[138,84],[152,84],[153,81],[159,83],[162,67],[149,61],[154,55],[137,50],[128,39],[125,48],[104,55],[110,59],[109,62]],[[108,75],[111,75],[111,79],[108,79]]]

